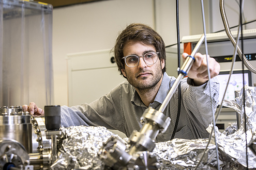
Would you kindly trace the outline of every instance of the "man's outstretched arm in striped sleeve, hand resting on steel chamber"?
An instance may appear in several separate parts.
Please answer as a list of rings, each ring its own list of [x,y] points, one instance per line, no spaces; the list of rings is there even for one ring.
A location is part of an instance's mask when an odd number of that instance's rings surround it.
[[[24,111],[30,114],[44,115],[44,111],[32,102],[23,105]],[[100,97],[91,104],[61,107],[61,125],[69,126],[104,126],[108,129],[123,129],[123,110],[121,107],[121,91],[119,86],[110,93]]]

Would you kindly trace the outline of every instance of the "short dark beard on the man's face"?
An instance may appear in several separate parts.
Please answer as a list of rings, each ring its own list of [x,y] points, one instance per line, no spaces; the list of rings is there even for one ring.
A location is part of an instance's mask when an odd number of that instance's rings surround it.
[[[140,73],[144,73],[144,72],[150,72],[151,76],[138,78],[137,75],[139,75]],[[140,91],[154,89],[154,87],[161,80],[162,75],[163,75],[161,65],[157,66],[156,69],[153,71],[148,71],[146,69],[143,69],[136,75],[134,75],[134,74],[132,75],[129,71],[125,71],[125,73],[126,73],[126,78],[127,78],[128,82],[134,88],[137,88]]]

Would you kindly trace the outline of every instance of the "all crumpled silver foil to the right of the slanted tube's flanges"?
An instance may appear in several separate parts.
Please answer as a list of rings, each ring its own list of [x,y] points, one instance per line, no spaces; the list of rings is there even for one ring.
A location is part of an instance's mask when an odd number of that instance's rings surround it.
[[[255,110],[256,110],[256,93],[254,87],[245,87],[245,106],[247,116],[247,135],[244,132],[244,125],[237,130],[236,123],[229,126],[223,133],[216,128],[216,137],[218,143],[218,157],[220,169],[247,169],[246,154],[248,154],[248,168],[256,168],[256,156],[247,148],[246,140],[249,143],[252,133],[255,131]],[[225,106],[233,108],[241,117],[244,116],[243,108],[243,89],[239,97],[234,101],[226,100]],[[241,121],[244,124],[244,120]],[[209,125],[208,132],[212,131],[213,125]],[[156,143],[153,152],[158,155],[160,169],[193,169],[197,166],[203,151],[208,143],[208,139],[185,140],[173,139],[168,142]],[[198,169],[215,169],[217,168],[216,146],[214,138],[210,141],[207,152],[204,155]]]

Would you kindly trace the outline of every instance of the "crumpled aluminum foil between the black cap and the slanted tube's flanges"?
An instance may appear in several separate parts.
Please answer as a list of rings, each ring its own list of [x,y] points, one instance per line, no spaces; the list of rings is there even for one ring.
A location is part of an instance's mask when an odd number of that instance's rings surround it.
[[[104,169],[97,153],[103,142],[117,134],[101,126],[72,126],[61,130],[64,135],[59,141],[58,159],[52,169]]]

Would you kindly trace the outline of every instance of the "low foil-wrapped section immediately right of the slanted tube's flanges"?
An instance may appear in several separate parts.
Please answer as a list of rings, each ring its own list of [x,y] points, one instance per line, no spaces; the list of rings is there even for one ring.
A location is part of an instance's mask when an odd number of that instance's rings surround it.
[[[192,169],[199,162],[208,139],[173,139],[156,143],[153,150],[158,155],[160,169]],[[217,165],[215,144],[211,141],[198,168],[210,169]]]

